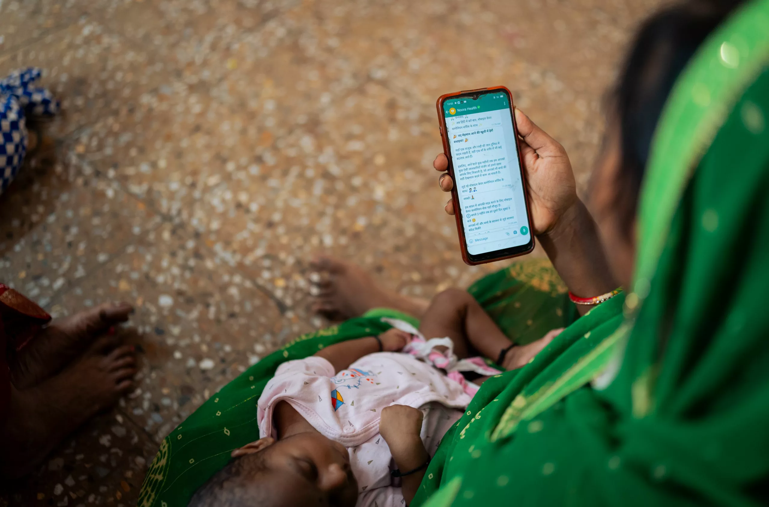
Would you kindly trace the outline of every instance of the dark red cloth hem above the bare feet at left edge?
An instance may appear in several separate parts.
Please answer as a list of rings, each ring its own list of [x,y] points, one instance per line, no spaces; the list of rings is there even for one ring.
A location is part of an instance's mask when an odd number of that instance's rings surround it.
[[[8,418],[11,372],[8,353],[18,352],[51,321],[51,316],[22,294],[0,283],[0,424]]]

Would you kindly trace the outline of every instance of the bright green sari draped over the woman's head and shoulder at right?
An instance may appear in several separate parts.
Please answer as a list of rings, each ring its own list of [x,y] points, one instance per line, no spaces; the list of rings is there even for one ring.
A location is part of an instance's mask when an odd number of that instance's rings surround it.
[[[767,27],[769,0],[744,5],[674,86],[624,316],[609,300],[484,383],[412,507],[769,501]]]

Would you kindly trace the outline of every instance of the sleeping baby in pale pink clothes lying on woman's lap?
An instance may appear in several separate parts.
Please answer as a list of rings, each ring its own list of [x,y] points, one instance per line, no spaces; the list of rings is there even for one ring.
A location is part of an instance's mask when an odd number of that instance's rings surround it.
[[[442,436],[474,393],[435,366],[455,365],[456,355],[464,359],[478,350],[496,356],[503,368],[518,367],[552,338],[511,348],[469,295],[435,303],[419,331],[394,321],[396,327],[379,336],[336,343],[279,366],[257,403],[262,438],[235,449],[190,505],[408,505]],[[424,335],[448,336],[448,347],[431,347]]]

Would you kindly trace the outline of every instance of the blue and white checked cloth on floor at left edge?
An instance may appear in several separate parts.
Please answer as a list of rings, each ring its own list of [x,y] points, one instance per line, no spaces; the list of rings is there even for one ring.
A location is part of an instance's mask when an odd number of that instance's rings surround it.
[[[58,101],[45,88],[33,86],[39,68],[13,71],[0,80],[0,194],[18,174],[27,152],[27,116],[52,116]]]

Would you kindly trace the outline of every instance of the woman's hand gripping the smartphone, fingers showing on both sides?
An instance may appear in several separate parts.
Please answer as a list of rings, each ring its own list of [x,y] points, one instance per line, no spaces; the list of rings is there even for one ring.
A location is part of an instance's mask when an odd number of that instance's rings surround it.
[[[534,124],[520,109],[515,109],[518,134],[521,135],[521,159],[526,172],[531,223],[534,234],[552,230],[564,213],[577,203],[577,185],[571,162],[564,147]],[[433,161],[438,171],[448,170],[448,158],[439,154]],[[438,178],[444,192],[450,192],[454,182],[448,174]],[[454,214],[454,202],[449,200],[446,213]]]

